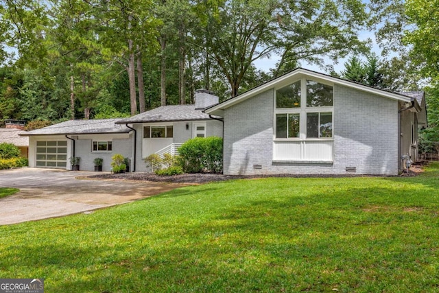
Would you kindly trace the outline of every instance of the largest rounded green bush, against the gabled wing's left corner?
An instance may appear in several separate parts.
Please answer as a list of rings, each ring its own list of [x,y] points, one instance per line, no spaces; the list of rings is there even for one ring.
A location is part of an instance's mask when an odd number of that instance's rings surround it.
[[[195,137],[178,149],[180,165],[187,173],[222,172],[222,138]]]

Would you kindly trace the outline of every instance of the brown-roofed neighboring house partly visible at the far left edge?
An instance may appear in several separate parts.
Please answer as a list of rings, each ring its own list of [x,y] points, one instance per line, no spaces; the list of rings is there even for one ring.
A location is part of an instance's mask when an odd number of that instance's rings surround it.
[[[25,121],[5,120],[5,124],[5,128],[0,128],[0,143],[12,143],[16,145],[16,147],[20,149],[20,155],[23,156],[23,158],[27,158],[29,139],[19,135],[23,132]]]

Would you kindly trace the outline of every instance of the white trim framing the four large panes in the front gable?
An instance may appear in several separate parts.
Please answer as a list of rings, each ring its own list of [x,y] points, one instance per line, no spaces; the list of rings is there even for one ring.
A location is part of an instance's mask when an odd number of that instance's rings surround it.
[[[294,84],[300,80],[300,108],[276,108],[276,92],[288,84]],[[319,79],[307,78],[306,76],[289,82],[288,84],[282,84],[282,86],[274,88],[274,99],[273,99],[273,141],[333,141],[334,140],[334,106],[322,106],[322,107],[307,107],[302,106],[307,104],[307,80],[313,80],[314,82],[319,82],[333,87],[333,95],[335,95],[334,84],[330,82],[324,82]],[[334,103],[334,99],[333,99]],[[299,137],[289,137],[289,138],[276,138],[276,115],[277,114],[300,114],[300,135]],[[307,113],[332,113],[332,137],[312,137],[307,138]]]

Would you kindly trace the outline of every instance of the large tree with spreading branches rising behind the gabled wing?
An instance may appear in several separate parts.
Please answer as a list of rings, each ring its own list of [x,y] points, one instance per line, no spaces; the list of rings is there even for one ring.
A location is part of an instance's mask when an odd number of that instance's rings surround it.
[[[352,50],[364,50],[357,32],[365,24],[361,1],[231,0],[218,1],[208,24],[214,32],[204,40],[231,95],[239,93],[252,62],[279,54],[274,75],[291,70],[300,61],[322,63],[324,55],[337,59]],[[205,17],[205,16],[203,16]]]

